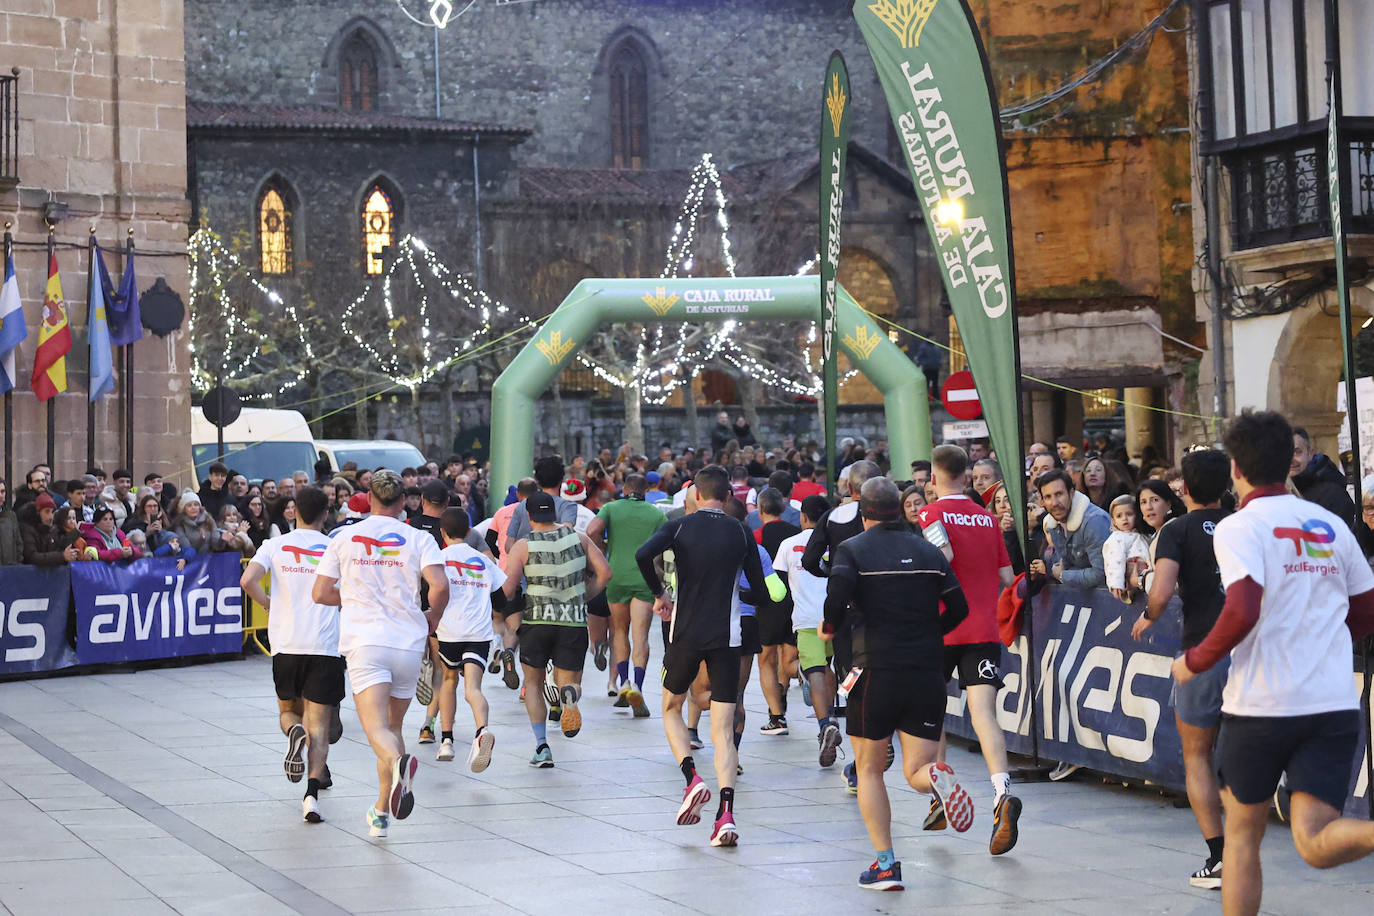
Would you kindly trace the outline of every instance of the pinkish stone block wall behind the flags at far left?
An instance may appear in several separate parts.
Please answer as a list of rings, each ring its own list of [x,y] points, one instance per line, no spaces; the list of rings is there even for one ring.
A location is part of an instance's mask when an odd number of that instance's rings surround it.
[[[29,378],[47,283],[41,210],[52,199],[67,205],[54,238],[63,246],[58,264],[74,343],[67,393],[55,398],[55,474],[63,478],[85,470],[88,275],[84,247],[65,246],[84,246],[93,227],[104,247],[122,250],[132,229],[139,290],[162,276],[187,297],[181,0],[5,0],[0,69],[12,66],[19,67],[19,187],[0,191],[0,220],[14,224],[29,320],[14,397],[15,475],[22,479],[47,452],[45,409]],[[122,257],[106,262],[118,277]],[[184,334],[146,336],[135,345],[135,472],[173,475],[190,457]],[[95,452],[107,471],[122,459],[129,422],[114,394],[98,404]]]

